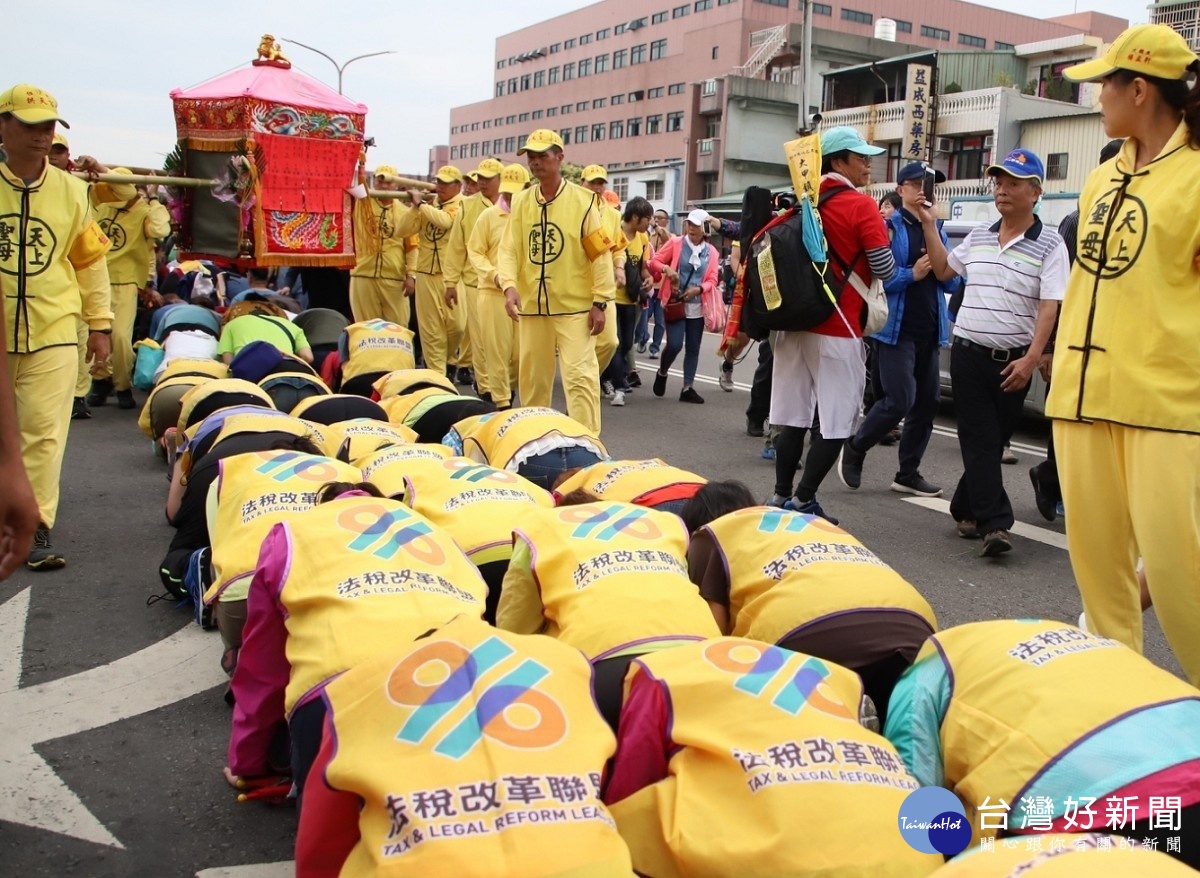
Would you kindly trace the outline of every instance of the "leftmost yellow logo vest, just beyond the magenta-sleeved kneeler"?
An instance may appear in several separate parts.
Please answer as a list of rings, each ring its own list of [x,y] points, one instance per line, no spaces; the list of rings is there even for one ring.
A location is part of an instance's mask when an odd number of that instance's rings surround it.
[[[226,457],[217,465],[214,576],[205,603],[244,600],[271,528],[316,506],[322,486],[362,480],[349,464],[299,451],[252,451]]]

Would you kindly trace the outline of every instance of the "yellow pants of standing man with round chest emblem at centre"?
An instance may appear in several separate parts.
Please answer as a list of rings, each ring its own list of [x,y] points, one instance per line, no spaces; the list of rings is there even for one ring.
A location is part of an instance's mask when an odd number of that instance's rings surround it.
[[[522,317],[517,329],[521,404],[550,408],[554,392],[557,345],[566,414],[599,433],[600,369],[596,367],[595,338],[588,331],[588,315]]]

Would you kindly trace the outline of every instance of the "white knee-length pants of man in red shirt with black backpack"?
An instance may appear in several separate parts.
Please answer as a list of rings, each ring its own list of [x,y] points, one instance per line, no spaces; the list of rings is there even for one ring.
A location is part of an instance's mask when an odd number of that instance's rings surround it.
[[[866,383],[863,339],[779,332],[772,349],[772,426],[811,427],[820,413],[826,439],[852,437]]]

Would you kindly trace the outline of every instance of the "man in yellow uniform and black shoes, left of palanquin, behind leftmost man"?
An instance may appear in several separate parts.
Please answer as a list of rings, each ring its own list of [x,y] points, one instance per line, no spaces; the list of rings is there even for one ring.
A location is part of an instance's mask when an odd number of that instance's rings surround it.
[[[84,158],[80,167],[86,170]],[[113,168],[114,174],[128,174],[127,168]],[[101,197],[95,193],[95,197]],[[95,200],[95,198],[94,198]],[[138,290],[152,284],[154,247],[170,234],[170,215],[157,200],[145,199],[133,191],[127,200],[102,203],[97,210],[101,230],[112,241],[108,251],[108,281],[112,284],[113,336],[112,359],[97,363],[88,405],[103,405],[116,391],[116,407],[132,409],[133,402],[133,321],[138,315]]]

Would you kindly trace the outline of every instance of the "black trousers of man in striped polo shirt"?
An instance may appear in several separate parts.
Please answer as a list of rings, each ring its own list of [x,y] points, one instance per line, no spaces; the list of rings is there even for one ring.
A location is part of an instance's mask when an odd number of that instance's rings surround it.
[[[1006,437],[1020,421],[1030,387],[1014,393],[1001,390],[1004,379],[1000,373],[1007,366],[960,339],[950,348],[950,386],[962,453],[962,477],[950,500],[950,515],[956,522],[976,522],[982,534],[1013,527],[1013,504],[1004,491],[1000,457]]]

